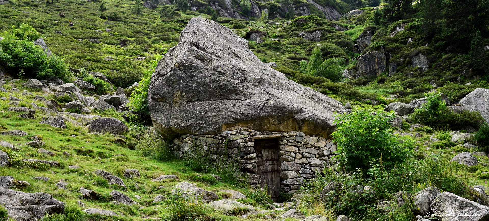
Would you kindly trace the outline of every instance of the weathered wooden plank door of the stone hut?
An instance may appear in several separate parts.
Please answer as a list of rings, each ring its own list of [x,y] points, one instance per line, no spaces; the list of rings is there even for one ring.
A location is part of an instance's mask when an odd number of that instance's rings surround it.
[[[280,195],[278,140],[255,140],[255,150],[258,158],[258,175],[260,175],[262,180],[261,187],[267,186],[268,194],[276,201]]]

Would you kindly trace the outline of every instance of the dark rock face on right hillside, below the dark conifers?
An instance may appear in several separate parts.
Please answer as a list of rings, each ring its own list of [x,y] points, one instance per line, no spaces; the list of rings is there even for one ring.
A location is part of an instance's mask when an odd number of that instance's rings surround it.
[[[361,55],[356,62],[357,70],[355,77],[362,76],[378,76],[385,71],[386,58],[384,53],[381,52],[369,52],[365,55]]]

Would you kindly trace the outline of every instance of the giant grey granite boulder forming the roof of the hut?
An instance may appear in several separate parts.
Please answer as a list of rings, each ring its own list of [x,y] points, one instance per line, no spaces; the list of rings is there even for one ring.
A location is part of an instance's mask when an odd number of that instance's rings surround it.
[[[248,42],[206,18],[192,18],[151,77],[153,126],[167,137],[257,131],[329,135],[342,104],[268,67]]]

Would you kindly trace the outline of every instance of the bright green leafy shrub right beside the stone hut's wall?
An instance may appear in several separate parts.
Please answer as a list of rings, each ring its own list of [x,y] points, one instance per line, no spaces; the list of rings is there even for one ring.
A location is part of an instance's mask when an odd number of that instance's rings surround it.
[[[340,153],[340,162],[347,171],[361,168],[366,175],[370,162],[382,161],[387,168],[404,162],[409,149],[404,148],[391,134],[392,113],[357,109],[352,113],[337,115],[333,132]],[[403,142],[408,145],[409,142]]]

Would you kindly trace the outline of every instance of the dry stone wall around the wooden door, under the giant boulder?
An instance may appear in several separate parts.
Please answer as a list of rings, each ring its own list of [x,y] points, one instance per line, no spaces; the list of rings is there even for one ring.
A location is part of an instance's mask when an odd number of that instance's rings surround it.
[[[261,179],[254,147],[255,141],[261,139],[278,139],[280,186],[286,192],[294,192],[306,179],[316,177],[324,167],[339,163],[332,159],[336,155],[336,145],[330,139],[306,135],[301,131],[255,131],[236,126],[217,135],[180,135],[175,138],[171,149],[181,157],[191,157],[198,148],[208,153],[211,159],[223,156],[234,159],[242,172],[247,173],[248,183],[258,187]]]

